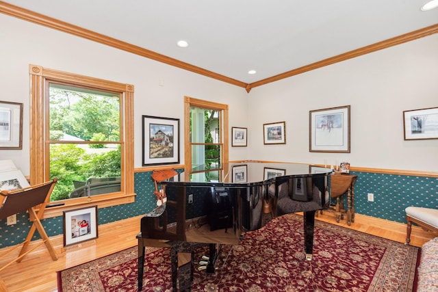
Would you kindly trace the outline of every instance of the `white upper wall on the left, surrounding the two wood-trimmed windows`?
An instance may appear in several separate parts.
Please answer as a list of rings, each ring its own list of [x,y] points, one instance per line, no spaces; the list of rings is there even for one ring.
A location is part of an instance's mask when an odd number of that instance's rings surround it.
[[[142,166],[142,115],[180,119],[184,162],[183,96],[228,104],[230,128],[248,126],[244,88],[4,14],[0,27],[0,101],[24,104],[23,150],[0,150],[0,159],[12,159],[25,175],[29,175],[29,64],[133,84],[136,168]],[[159,86],[160,79],[164,86]],[[231,148],[229,157],[246,159],[246,152]]]

